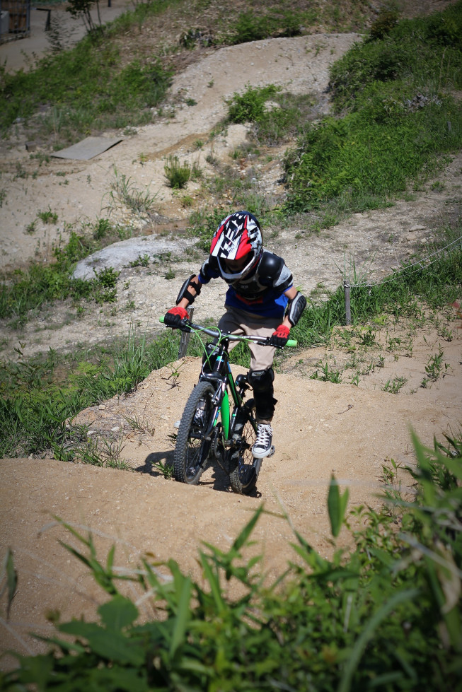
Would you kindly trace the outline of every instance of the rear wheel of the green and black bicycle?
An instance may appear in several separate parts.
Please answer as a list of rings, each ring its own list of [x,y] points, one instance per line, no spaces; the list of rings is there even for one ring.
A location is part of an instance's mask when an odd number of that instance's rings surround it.
[[[234,493],[248,495],[257,483],[261,459],[254,459],[252,445],[257,435],[255,401],[250,399],[238,411],[234,426],[234,445],[229,451],[229,482]]]

